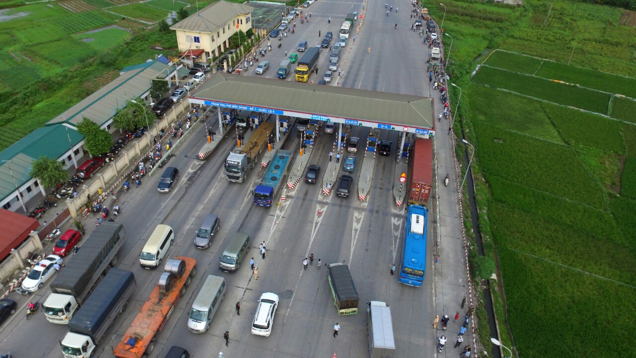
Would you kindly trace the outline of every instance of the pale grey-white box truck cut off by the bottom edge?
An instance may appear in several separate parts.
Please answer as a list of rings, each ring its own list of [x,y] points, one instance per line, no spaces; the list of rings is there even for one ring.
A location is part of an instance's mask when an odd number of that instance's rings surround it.
[[[393,336],[391,308],[380,301],[366,304],[370,358],[393,358],[396,341]]]

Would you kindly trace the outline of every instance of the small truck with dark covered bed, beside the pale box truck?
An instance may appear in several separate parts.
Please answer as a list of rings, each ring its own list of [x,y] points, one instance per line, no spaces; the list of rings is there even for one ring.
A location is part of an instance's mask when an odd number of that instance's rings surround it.
[[[351,278],[349,266],[336,262],[327,265],[329,287],[333,296],[333,304],[338,315],[352,315],[357,313],[358,295],[354,280]]]

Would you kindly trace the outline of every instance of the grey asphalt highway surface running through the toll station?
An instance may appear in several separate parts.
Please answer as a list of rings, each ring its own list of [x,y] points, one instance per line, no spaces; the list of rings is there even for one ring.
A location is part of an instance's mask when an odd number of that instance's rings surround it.
[[[371,8],[366,13],[361,32],[347,43],[350,52],[341,62],[345,76],[337,84],[366,90],[380,90],[404,94],[428,96],[425,81],[425,59],[427,49],[415,33],[409,33],[411,23],[410,4],[404,2],[404,10],[398,14]],[[408,6],[408,8],[407,8]],[[284,58],[284,50],[291,54],[300,39],[312,44],[319,43],[327,31],[338,30],[347,13],[359,11],[361,3],[317,1],[305,10],[312,12],[310,22],[296,22],[296,33],[288,34],[283,47],[275,48],[264,58],[270,61],[270,69],[264,76],[275,78],[275,66]],[[327,18],[331,17],[331,24]],[[398,29],[394,29],[397,22]],[[356,23],[357,25],[357,23]],[[355,33],[354,33],[355,34]],[[371,52],[368,54],[368,47]],[[321,54],[319,77],[327,70],[324,59],[328,51]],[[254,67],[247,75],[253,74]],[[313,79],[313,78],[312,78]],[[288,78],[291,80],[291,78]],[[331,83],[336,85],[336,83]],[[212,116],[216,119],[216,115]],[[355,127],[353,136],[366,138],[368,129]],[[383,131],[382,139],[398,143],[401,133]],[[296,133],[288,134],[283,146],[298,150]],[[326,168],[328,152],[333,145],[334,134],[322,135],[315,146],[310,164]],[[249,174],[245,183],[231,183],[223,177],[223,161],[235,147],[235,141],[226,139],[215,154],[206,162],[197,159],[202,143],[190,140],[179,148],[168,165],[181,172],[177,189],[169,194],[155,190],[159,175],[146,178],[141,187],[121,194],[121,215],[117,219],[127,229],[127,241],[120,251],[118,267],[130,269],[137,279],[137,290],[129,309],[111,330],[112,339],[99,347],[97,357],[111,357],[111,347],[121,339],[130,326],[136,311],[158,282],[160,270],[146,270],[139,266],[139,252],[156,224],[168,224],[176,231],[175,243],[169,255],[185,255],[198,259],[197,278],[181,299],[168,320],[163,332],[158,334],[158,345],[151,357],[163,357],[172,345],[190,350],[194,357],[216,357],[223,351],[225,357],[365,357],[367,351],[367,301],[385,301],[392,307],[397,357],[420,356],[422,352],[432,355],[434,339],[431,339],[433,309],[432,275],[425,276],[424,287],[414,288],[397,282],[397,275],[389,275],[392,262],[399,266],[403,244],[402,232],[405,224],[404,211],[392,205],[391,193],[394,157],[378,157],[371,185],[373,195],[367,202],[356,196],[342,199],[321,195],[321,183],[309,185],[300,182],[287,194],[280,206],[263,208],[252,203],[251,189],[258,180],[259,171]],[[393,150],[396,150],[395,145]],[[359,163],[361,155],[357,154]],[[290,164],[291,165],[291,164]],[[354,173],[356,182],[359,171]],[[356,192],[354,188],[354,192]],[[321,215],[318,214],[321,211]],[[216,213],[221,218],[221,231],[210,248],[198,250],[193,238],[198,225],[207,213]],[[429,236],[432,218],[429,215]],[[236,273],[224,273],[218,268],[219,255],[233,233],[250,234],[252,249],[242,268]],[[266,241],[266,259],[260,259],[258,245]],[[429,248],[432,250],[431,241]],[[220,252],[219,252],[220,251]],[[429,251],[432,252],[432,251]],[[81,254],[81,251],[80,253]],[[345,262],[356,283],[360,296],[356,315],[338,317],[326,279],[326,267],[317,269],[314,263],[306,271],[302,261],[310,254],[322,259],[323,264]],[[254,257],[259,268],[259,280],[254,280],[249,269],[249,257]],[[72,259],[72,258],[71,258]],[[223,303],[212,320],[211,329],[204,334],[188,331],[186,322],[191,303],[207,275],[226,278],[228,290]],[[34,299],[43,302],[50,290],[46,285]],[[263,292],[274,292],[280,296],[273,333],[270,337],[254,336],[250,333],[256,300]],[[234,305],[242,304],[237,316]],[[333,338],[333,326],[338,322],[340,334]],[[225,347],[223,333],[230,331],[230,344]],[[66,334],[66,326],[50,324],[41,313],[29,321],[24,320],[24,308],[0,328],[0,352],[9,350],[15,357],[60,357],[57,341]],[[449,340],[450,343],[450,340]]]

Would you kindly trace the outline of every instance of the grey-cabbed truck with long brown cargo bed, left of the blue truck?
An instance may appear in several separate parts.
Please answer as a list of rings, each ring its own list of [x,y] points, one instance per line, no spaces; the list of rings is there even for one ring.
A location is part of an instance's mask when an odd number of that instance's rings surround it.
[[[273,140],[275,127],[271,122],[261,123],[242,148],[230,152],[225,159],[225,176],[230,182],[245,181],[247,173],[256,166],[259,156]]]

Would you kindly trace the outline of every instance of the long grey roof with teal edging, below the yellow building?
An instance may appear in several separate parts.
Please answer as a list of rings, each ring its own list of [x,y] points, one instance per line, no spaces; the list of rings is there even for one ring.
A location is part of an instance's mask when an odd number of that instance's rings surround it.
[[[126,101],[148,92],[153,78],[169,78],[173,71],[173,67],[156,60],[128,66],[120,71],[121,76],[113,82],[64,111],[46,125],[62,122],[77,125],[84,117],[103,125],[126,104]]]

